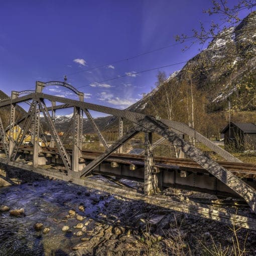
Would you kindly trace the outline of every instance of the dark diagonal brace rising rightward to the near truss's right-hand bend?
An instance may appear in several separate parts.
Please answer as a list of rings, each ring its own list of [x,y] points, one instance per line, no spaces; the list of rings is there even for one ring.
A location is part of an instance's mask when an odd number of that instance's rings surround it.
[[[136,131],[134,128],[128,131],[123,137],[121,137],[114,144],[112,144],[108,149],[106,149],[102,155],[100,155],[99,157],[95,158],[92,162],[90,162],[82,170],[80,177],[83,177],[89,172],[91,172],[95,167],[97,167],[100,163],[102,163],[111,153],[113,153],[115,150],[121,147],[123,143],[125,143],[126,141],[128,141],[129,139],[137,135],[138,133],[139,131]]]

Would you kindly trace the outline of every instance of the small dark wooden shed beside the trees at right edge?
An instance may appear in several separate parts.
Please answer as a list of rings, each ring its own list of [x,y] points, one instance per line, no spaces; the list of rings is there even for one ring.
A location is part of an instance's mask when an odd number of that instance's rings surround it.
[[[223,128],[225,150],[256,150],[256,125],[251,122],[230,122]]]

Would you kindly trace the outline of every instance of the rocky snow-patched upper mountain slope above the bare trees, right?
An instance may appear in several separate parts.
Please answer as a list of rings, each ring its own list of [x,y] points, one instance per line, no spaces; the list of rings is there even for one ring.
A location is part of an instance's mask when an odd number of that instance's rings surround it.
[[[206,93],[208,104],[216,105],[237,94],[243,97],[243,85],[246,87],[248,83],[251,85],[255,82],[255,61],[256,12],[252,12],[237,27],[221,32],[205,50],[190,59],[182,70],[173,73],[166,82],[129,109],[145,111],[150,101],[155,104],[158,95],[164,93],[163,87],[167,86],[169,91],[173,83],[177,82],[192,82],[196,89]],[[243,106],[240,105],[240,108]],[[244,110],[255,108],[255,104],[248,104]]]

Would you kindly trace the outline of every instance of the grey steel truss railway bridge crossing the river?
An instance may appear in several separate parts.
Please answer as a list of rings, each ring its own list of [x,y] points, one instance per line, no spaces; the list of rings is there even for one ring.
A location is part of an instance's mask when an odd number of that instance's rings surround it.
[[[73,91],[78,100],[49,95],[43,92],[46,86],[58,85]],[[29,110],[25,116],[16,118],[19,103],[28,103]],[[50,105],[49,105],[50,102]],[[9,166],[39,173],[64,181],[103,190],[135,200],[143,200],[150,204],[167,207],[180,212],[236,224],[241,227],[256,230],[256,183],[254,175],[256,168],[240,160],[213,144],[207,138],[188,125],[166,119],[156,119],[142,113],[119,110],[97,104],[84,102],[83,92],[66,82],[36,82],[35,90],[12,91],[10,98],[0,102],[0,111],[10,109],[10,123],[4,127],[0,117],[0,139],[2,154],[0,162]],[[64,147],[55,126],[56,110],[73,108],[72,150]],[[89,110],[106,113],[118,118],[118,140],[108,145]],[[40,113],[43,114],[55,142],[55,148],[43,147],[44,141]],[[82,150],[83,116],[89,119],[99,141],[105,147],[101,153]],[[123,132],[123,121],[131,122],[131,129]],[[20,125],[22,129],[14,136],[14,128]],[[24,146],[24,139],[31,132],[32,147]],[[123,145],[139,133],[145,134],[145,150],[143,155],[122,154]],[[161,138],[152,142],[153,133]],[[184,140],[183,135],[194,138],[226,160],[215,162],[202,153],[191,143]],[[189,159],[157,158],[153,149],[167,141],[177,147]],[[54,164],[64,166],[64,170],[44,168]],[[63,169],[63,168],[62,168]],[[112,185],[89,179],[88,176],[100,174],[114,183]],[[115,176],[116,178],[113,178]],[[144,193],[123,186],[120,178],[144,182]],[[121,186],[120,186],[121,185]],[[216,208],[211,205],[193,201],[177,201],[172,197],[163,196],[165,187],[189,188],[219,195],[240,198],[250,208],[248,214],[235,214],[227,208]]]

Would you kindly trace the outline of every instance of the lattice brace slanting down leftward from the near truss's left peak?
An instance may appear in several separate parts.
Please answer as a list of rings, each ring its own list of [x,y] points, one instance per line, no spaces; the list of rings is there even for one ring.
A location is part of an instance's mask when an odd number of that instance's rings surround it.
[[[36,102],[33,101],[30,105],[30,108],[29,108],[29,111],[27,113],[27,116],[25,118],[25,123],[24,123],[24,129],[23,131],[21,130],[18,137],[17,137],[17,140],[14,144],[14,149],[12,152],[9,153],[9,161],[15,161],[15,157],[18,153],[18,150],[21,146],[21,144],[23,143],[23,140],[27,134],[27,132],[29,131],[29,127],[32,123],[32,119],[33,119],[33,111],[34,111],[34,108],[35,108],[35,104]]]

